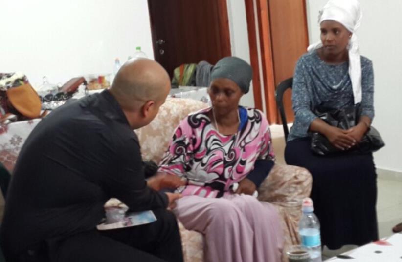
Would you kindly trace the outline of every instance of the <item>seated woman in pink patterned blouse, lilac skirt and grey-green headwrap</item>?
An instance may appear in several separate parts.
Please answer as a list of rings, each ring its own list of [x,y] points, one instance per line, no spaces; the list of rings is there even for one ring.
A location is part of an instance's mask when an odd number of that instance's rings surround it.
[[[244,60],[218,61],[208,91],[212,107],[181,121],[159,168],[187,181],[173,211],[186,229],[205,235],[208,262],[281,260],[277,211],[252,196],[274,153],[263,113],[239,106],[251,77]]]

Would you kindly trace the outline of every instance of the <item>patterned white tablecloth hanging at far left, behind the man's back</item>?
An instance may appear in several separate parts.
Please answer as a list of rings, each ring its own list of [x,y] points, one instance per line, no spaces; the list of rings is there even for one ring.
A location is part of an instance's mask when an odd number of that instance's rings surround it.
[[[39,121],[41,119],[0,125],[0,162],[9,171],[14,169],[22,145]]]

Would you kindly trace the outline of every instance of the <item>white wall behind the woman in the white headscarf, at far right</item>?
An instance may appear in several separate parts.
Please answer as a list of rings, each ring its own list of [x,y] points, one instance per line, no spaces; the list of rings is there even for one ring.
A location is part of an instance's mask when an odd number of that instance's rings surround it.
[[[327,0],[308,0],[310,42],[319,40],[318,10]],[[378,168],[402,172],[402,10],[401,0],[360,0],[360,53],[373,61],[376,116],[386,146],[375,153]]]

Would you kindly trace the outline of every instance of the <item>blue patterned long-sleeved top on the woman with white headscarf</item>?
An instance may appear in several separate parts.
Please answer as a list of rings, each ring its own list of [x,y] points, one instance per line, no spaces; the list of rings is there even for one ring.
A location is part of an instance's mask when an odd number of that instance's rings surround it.
[[[374,74],[371,60],[361,56],[361,115],[374,118]],[[317,106],[342,108],[353,105],[349,62],[331,65],[320,59],[317,51],[304,54],[296,64],[293,76],[292,102],[295,119],[288,141],[308,136],[312,112]]]

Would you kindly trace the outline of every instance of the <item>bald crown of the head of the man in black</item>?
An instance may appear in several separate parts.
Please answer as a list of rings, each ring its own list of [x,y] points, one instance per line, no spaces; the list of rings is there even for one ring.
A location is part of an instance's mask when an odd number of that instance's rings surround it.
[[[156,61],[134,59],[123,64],[109,90],[124,110],[136,110],[147,101],[163,101],[170,78]]]

